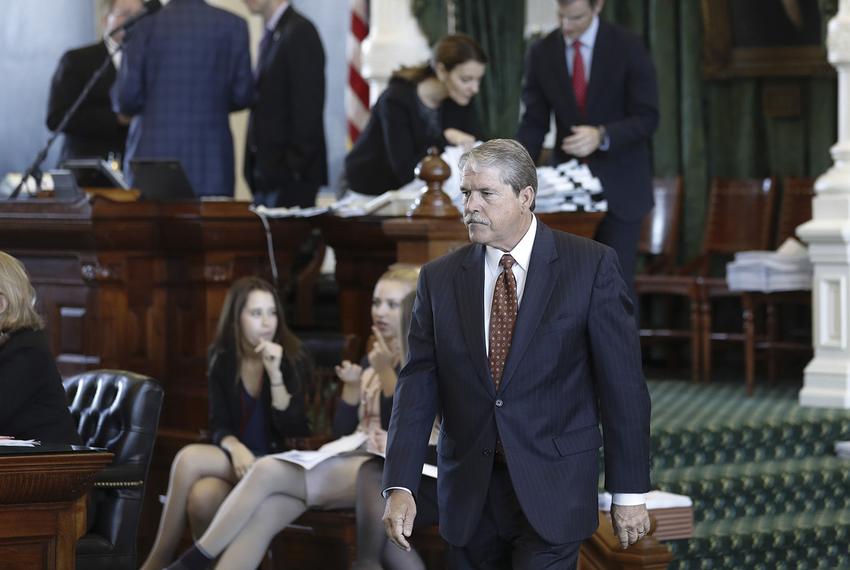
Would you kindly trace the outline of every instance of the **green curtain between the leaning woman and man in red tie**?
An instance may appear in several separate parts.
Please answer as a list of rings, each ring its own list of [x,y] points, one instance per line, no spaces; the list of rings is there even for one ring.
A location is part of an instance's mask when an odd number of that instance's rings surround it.
[[[457,30],[475,38],[490,64],[475,98],[486,138],[513,137],[525,57],[525,0],[457,0]]]

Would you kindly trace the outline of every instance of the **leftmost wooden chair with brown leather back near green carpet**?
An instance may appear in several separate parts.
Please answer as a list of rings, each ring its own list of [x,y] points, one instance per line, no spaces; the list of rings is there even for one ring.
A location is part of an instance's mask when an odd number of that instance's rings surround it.
[[[648,317],[654,311],[641,310],[640,336],[643,344],[660,341],[686,340],[691,345],[691,374],[699,377],[699,299],[693,277],[676,271],[679,226],[682,217],[682,179],[657,178],[654,181],[655,208],[644,218],[638,254],[644,260],[644,270],[635,276],[637,303],[641,301],[670,301],[670,297],[686,299],[690,304],[690,327],[672,326],[669,303],[661,327],[651,327]]]

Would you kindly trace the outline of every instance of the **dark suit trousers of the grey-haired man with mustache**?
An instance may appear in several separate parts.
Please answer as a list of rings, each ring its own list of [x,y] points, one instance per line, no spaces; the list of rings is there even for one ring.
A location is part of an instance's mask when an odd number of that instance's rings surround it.
[[[564,570],[575,568],[581,542],[550,544],[529,524],[507,465],[496,463],[478,529],[466,546],[449,546],[452,570]]]

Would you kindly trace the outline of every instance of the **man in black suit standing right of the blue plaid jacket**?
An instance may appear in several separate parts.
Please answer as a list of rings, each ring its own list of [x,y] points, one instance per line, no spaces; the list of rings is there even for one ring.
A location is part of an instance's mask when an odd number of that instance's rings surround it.
[[[245,179],[255,204],[314,206],[327,184],[325,52],[313,24],[286,0],[245,0],[265,22],[254,73]]]

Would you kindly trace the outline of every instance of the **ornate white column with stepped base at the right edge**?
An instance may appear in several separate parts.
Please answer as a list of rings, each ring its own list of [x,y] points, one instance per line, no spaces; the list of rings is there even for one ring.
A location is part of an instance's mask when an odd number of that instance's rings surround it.
[[[815,182],[812,220],[797,228],[815,267],[815,357],[804,372],[800,404],[850,408],[850,0],[841,0],[829,22],[827,48],[838,71],[838,142],[832,168]]]

